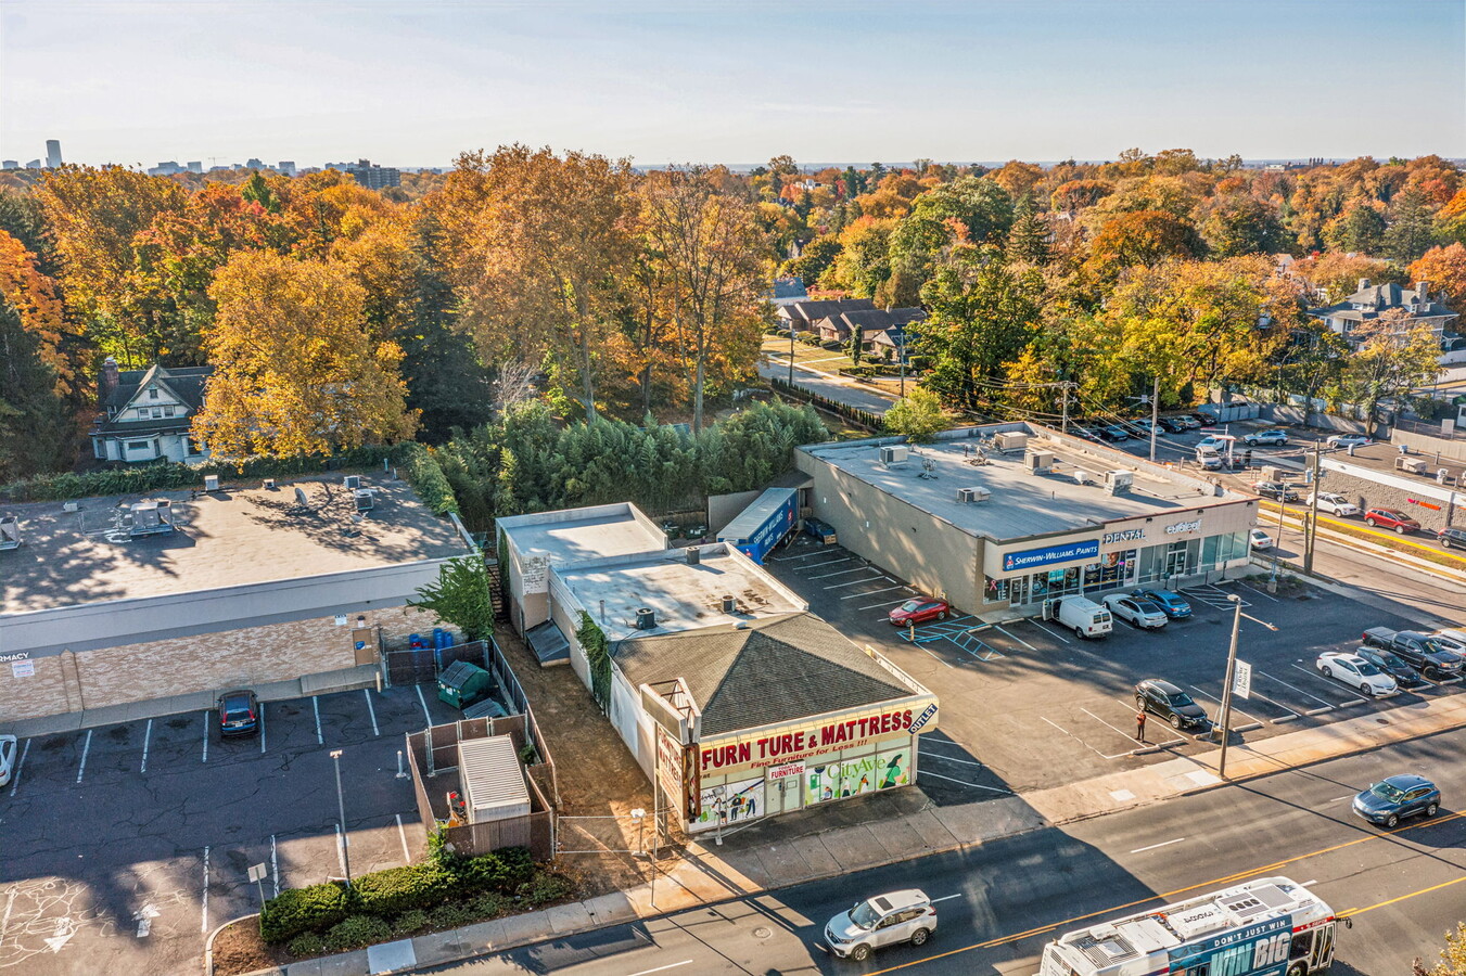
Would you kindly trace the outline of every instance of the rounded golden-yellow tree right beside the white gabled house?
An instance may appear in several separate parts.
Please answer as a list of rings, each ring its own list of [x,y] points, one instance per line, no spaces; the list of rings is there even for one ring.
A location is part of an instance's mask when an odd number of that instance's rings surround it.
[[[412,437],[402,349],[368,334],[366,295],[346,268],[246,252],[210,295],[214,374],[194,434],[216,453],[290,457]]]

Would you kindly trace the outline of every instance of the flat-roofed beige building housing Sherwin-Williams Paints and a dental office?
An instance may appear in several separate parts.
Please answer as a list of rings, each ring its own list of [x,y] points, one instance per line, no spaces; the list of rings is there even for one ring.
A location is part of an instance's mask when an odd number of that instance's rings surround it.
[[[1028,424],[795,457],[844,547],[978,614],[1236,574],[1258,514],[1250,495]]]

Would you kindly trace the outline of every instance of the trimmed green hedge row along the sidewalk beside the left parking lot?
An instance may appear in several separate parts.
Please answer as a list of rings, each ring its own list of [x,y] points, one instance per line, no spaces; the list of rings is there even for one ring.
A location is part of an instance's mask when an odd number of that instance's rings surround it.
[[[364,875],[350,888],[334,881],[287,888],[265,901],[259,935],[265,942],[287,942],[306,934],[334,932],[336,926],[358,916],[381,919],[427,912],[449,900],[484,892],[515,894],[532,881],[535,863],[522,847],[482,857],[438,856],[421,865]],[[361,925],[365,923],[356,928]]]

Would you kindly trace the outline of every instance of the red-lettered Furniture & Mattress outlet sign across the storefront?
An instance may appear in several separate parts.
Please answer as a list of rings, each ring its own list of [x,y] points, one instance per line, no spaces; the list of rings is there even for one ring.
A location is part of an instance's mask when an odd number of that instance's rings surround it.
[[[746,734],[701,742],[698,769],[704,777],[720,777],[792,766],[812,756],[907,737],[915,731],[925,733],[935,727],[937,698],[924,695],[878,708],[817,715]]]

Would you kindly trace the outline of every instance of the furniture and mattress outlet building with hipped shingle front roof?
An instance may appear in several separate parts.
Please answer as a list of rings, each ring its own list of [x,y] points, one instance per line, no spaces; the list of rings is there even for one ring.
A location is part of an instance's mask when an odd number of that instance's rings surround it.
[[[498,528],[517,626],[563,648],[688,829],[915,781],[935,696],[732,544],[668,550],[629,504]]]

